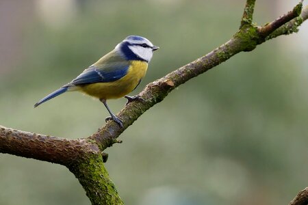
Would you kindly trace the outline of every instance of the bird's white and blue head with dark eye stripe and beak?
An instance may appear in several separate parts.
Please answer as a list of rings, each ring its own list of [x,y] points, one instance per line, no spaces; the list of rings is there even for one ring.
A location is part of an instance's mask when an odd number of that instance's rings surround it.
[[[153,51],[159,49],[149,40],[141,36],[127,36],[116,48],[127,60],[141,60],[149,63],[153,56]]]

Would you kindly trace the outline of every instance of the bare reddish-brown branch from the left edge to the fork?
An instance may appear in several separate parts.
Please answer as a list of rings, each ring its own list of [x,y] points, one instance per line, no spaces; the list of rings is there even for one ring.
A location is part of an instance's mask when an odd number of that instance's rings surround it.
[[[79,153],[100,150],[86,139],[64,139],[0,126],[0,152],[69,165],[78,159]]]

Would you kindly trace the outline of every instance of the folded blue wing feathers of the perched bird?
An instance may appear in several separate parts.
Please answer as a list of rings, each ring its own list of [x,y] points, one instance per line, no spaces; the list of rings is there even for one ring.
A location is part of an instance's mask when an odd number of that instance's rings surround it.
[[[114,69],[100,70],[96,66],[90,66],[88,69],[84,70],[79,76],[74,79],[70,84],[82,85],[89,83],[107,83],[116,81],[122,77],[125,77],[129,65],[116,65]]]

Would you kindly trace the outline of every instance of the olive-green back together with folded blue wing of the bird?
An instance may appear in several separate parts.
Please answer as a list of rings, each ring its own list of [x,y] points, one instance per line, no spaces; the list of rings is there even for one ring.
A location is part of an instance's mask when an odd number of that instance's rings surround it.
[[[70,85],[116,81],[124,77],[128,69],[129,61],[111,52],[79,74],[76,79],[70,82]]]

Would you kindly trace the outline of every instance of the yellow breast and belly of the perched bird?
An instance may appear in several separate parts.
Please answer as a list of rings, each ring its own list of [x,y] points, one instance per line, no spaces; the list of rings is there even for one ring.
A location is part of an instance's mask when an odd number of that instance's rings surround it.
[[[145,61],[131,61],[125,77],[108,83],[92,83],[84,85],[81,92],[96,98],[122,98],[133,91],[146,74],[148,64]]]

